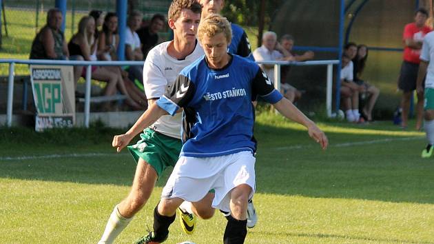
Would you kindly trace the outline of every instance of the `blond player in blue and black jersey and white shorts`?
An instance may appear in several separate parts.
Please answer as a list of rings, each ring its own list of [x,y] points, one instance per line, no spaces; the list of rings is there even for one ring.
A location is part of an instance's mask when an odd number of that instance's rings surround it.
[[[272,103],[292,121],[304,125],[322,149],[327,136],[290,101],[273,88],[259,66],[229,54],[231,26],[227,19],[211,14],[200,21],[198,39],[205,57],[180,72],[171,89],[134,123],[125,134],[114,136],[112,145],[121,151],[153,121],[183,108],[183,148],[180,158],[154,209],[154,230],[137,243],[163,243],[169,225],[183,201],[207,202],[225,212],[223,243],[244,243],[247,235],[247,203],[255,192],[256,141],[253,138],[256,96]],[[209,190],[214,199],[207,199]]]

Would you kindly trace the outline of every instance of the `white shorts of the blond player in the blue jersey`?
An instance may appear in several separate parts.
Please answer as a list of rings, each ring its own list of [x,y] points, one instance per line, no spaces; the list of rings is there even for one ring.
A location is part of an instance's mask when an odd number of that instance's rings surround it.
[[[255,162],[251,152],[195,158],[180,156],[161,194],[162,199],[180,198],[197,202],[214,189],[212,207],[229,212],[228,194],[234,187],[247,184],[255,192]]]

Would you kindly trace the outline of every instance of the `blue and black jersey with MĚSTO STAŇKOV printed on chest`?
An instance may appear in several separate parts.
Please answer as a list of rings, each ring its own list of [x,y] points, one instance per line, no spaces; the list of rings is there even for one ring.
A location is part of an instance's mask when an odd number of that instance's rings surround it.
[[[180,72],[157,105],[169,114],[183,108],[183,148],[180,155],[221,156],[256,150],[253,137],[256,96],[269,103],[282,99],[259,66],[238,55],[219,70],[206,57]]]

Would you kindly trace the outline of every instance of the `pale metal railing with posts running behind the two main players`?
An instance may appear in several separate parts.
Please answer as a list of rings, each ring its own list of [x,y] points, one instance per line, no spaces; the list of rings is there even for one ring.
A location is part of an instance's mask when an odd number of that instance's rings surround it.
[[[12,102],[14,96],[14,69],[15,64],[27,65],[81,65],[87,66],[85,77],[85,109],[84,109],[84,126],[89,127],[90,119],[90,92],[91,92],[91,77],[92,65],[99,66],[125,66],[125,65],[143,65],[144,61],[68,61],[68,60],[43,60],[43,59],[0,59],[0,63],[9,63],[9,77],[8,77],[8,105],[7,105],[7,119],[6,125],[12,126]],[[327,116],[331,116],[331,99],[333,87],[333,65],[339,63],[339,60],[323,60],[323,61],[256,61],[258,64],[274,65],[274,87],[280,90],[280,67],[282,65],[327,65],[327,99],[326,109]]]

